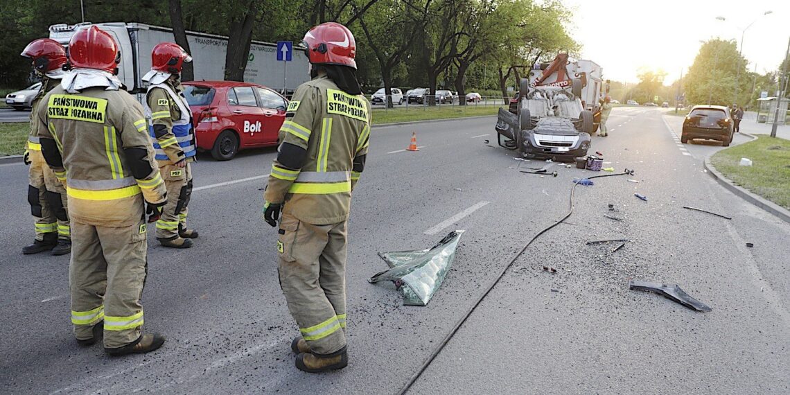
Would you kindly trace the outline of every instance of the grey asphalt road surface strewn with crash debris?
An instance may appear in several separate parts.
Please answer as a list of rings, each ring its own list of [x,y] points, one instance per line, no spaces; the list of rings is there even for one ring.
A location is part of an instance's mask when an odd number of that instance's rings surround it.
[[[611,136],[594,137],[593,149],[636,174],[577,187],[569,224],[529,247],[411,393],[790,391],[790,226],[705,174],[702,158],[721,147],[691,145],[683,155],[670,118],[613,111]],[[598,174],[560,165],[556,178],[521,173],[520,164],[542,163],[496,147],[494,122],[374,127],[349,222],[350,363],[332,374],[293,367],[288,345],[298,331],[276,280],[276,231],[260,219],[274,149],[228,162],[204,156],[194,166],[196,246],[165,250],[149,235],[145,329],[167,343],[122,359],[73,342],[68,258],[21,254],[32,240],[27,168],[0,166],[0,314],[8,322],[0,392],[397,393],[517,250],[567,212],[571,180]],[[422,148],[404,152],[412,132]],[[426,234],[472,206],[479,209]],[[404,307],[393,286],[367,283],[386,268],[378,252],[432,246],[453,229],[466,232],[427,307]],[[631,241],[615,253],[585,245],[609,237]],[[629,291],[632,279],[679,284],[713,311]]]

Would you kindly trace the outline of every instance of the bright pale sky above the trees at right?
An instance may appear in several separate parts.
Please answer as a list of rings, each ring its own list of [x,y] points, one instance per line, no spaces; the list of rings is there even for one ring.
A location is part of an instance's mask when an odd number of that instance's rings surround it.
[[[638,82],[639,69],[664,70],[664,85],[694,63],[700,41],[720,37],[741,44],[749,70],[776,70],[790,39],[790,0],[562,0],[581,58],[604,68],[612,81]],[[766,11],[772,11],[764,15]],[[717,20],[723,17],[724,21]]]

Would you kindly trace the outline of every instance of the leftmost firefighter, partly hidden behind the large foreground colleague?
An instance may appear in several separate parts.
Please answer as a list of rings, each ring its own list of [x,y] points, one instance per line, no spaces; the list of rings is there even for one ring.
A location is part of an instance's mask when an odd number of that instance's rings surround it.
[[[41,98],[58,85],[67,68],[66,50],[55,40],[33,40],[24,47],[22,56],[30,58],[33,70],[41,77],[41,89],[32,100],[30,134],[24,150],[24,164],[30,165],[28,201],[36,218],[36,239],[22,249],[22,254],[38,254],[52,250],[53,255],[69,254],[71,230],[69,226],[66,188],[58,181],[41,155],[38,122],[33,116]]]

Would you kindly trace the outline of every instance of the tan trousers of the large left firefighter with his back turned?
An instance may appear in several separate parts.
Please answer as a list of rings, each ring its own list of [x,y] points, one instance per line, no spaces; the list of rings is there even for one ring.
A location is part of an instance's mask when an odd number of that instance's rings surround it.
[[[106,228],[72,222],[69,265],[71,322],[74,336],[90,339],[104,320],[104,347],[137,340],[143,325],[140,298],[148,272],[146,225]]]

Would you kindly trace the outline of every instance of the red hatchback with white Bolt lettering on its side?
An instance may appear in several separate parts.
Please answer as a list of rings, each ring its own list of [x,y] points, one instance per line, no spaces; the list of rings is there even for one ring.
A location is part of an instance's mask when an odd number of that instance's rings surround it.
[[[265,86],[235,81],[184,82],[198,149],[230,160],[241,149],[277,145],[288,100]]]

